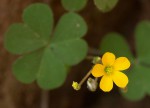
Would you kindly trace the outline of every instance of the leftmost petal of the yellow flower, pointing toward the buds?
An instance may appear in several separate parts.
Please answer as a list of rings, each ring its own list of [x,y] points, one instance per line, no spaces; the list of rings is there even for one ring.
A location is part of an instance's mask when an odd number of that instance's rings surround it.
[[[102,75],[104,75],[104,66],[101,64],[96,64],[93,67],[91,73],[94,77],[101,77]]]

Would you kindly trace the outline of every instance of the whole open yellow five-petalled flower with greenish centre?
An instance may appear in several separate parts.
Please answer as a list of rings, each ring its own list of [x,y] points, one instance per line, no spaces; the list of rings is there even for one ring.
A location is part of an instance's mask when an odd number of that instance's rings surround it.
[[[128,84],[128,77],[120,72],[130,67],[130,61],[126,57],[116,59],[115,55],[106,52],[102,57],[102,64],[96,64],[91,73],[94,77],[102,77],[100,88],[104,92],[109,92],[113,88],[113,82],[120,88],[125,88]]]

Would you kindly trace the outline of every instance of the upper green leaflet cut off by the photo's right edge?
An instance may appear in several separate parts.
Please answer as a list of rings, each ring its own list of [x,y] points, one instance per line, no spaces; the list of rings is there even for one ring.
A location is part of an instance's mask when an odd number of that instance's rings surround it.
[[[150,22],[139,23],[135,31],[136,50],[139,62],[150,64]]]

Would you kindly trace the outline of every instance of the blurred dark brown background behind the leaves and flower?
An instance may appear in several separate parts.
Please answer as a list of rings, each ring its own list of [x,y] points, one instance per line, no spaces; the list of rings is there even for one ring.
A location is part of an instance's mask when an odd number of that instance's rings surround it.
[[[0,0],[0,108],[150,108],[149,96],[131,102],[121,96],[117,87],[110,93],[90,92],[84,84],[80,91],[74,91],[72,81],[80,81],[92,66],[88,60],[73,66],[66,82],[55,90],[43,91],[36,83],[25,85],[17,81],[11,69],[16,56],[4,49],[4,34],[12,23],[22,21],[24,8],[37,2],[47,3],[52,8],[55,24],[67,12],[60,0]],[[89,0],[79,14],[88,24],[85,40],[90,46],[89,54],[97,55],[95,49],[109,32],[122,34],[135,54],[134,30],[138,22],[150,20],[150,0],[119,0],[117,6],[105,14]]]

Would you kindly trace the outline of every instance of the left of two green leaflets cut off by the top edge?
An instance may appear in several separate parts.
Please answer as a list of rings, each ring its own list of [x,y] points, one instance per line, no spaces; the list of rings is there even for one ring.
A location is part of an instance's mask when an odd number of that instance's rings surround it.
[[[61,0],[63,7],[68,11],[79,11],[83,9],[87,0]]]

